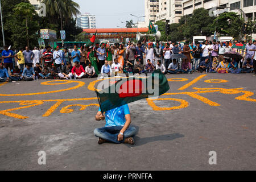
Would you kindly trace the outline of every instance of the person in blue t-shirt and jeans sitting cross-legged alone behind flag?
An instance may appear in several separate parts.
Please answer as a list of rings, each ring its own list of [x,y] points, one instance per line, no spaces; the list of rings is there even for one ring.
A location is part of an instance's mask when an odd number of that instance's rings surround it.
[[[123,105],[105,112],[105,117],[101,109],[96,114],[96,121],[106,119],[106,125],[94,130],[94,135],[98,137],[98,144],[105,142],[134,144],[133,136],[137,133],[135,127],[130,126],[131,115],[129,106]]]

